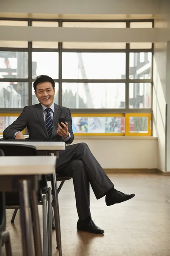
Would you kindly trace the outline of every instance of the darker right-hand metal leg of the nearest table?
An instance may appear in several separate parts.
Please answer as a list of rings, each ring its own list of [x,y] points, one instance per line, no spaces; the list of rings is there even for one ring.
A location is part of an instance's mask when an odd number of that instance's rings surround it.
[[[38,214],[37,192],[35,189],[31,189],[31,204],[32,204],[33,224],[34,224],[33,233],[34,233],[35,255],[42,256],[40,220],[39,220],[39,214]]]

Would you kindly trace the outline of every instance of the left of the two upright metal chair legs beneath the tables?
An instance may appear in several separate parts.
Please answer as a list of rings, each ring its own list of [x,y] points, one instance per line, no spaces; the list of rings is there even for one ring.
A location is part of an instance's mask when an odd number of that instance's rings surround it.
[[[42,218],[43,218],[43,255],[48,256],[48,224],[47,224],[47,197],[42,197]]]

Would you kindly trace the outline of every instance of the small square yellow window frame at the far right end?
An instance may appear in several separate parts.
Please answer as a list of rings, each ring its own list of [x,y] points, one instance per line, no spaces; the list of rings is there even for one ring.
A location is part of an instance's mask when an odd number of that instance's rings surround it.
[[[147,117],[148,122],[147,122],[147,133],[130,133],[129,132],[129,117]],[[152,114],[151,113],[126,113],[125,114],[125,136],[131,136],[131,137],[140,137],[140,136],[151,136],[152,135],[152,130],[151,130],[151,119],[152,119]]]

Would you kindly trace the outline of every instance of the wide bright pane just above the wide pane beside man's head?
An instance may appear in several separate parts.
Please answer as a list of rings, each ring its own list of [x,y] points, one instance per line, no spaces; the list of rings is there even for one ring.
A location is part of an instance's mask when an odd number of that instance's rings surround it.
[[[63,79],[125,78],[124,52],[63,52]]]

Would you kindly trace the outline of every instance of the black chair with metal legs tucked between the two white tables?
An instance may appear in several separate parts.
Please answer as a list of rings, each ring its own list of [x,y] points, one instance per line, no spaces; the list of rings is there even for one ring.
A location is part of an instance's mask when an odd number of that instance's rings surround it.
[[[1,143],[0,149],[4,152],[5,156],[36,156],[37,149],[32,145],[23,144],[6,144]],[[48,255],[48,250],[52,250],[52,241],[49,237],[52,237],[51,228],[48,230],[48,222],[51,223],[52,218],[52,204],[51,204],[51,188],[47,189],[48,199],[46,195],[43,195],[41,189],[44,188],[46,184],[46,176],[42,175],[42,180],[40,180],[40,191],[38,192],[38,204],[42,204],[42,215],[43,215],[43,250],[44,255]],[[50,194],[50,195],[49,195]],[[47,201],[48,201],[48,211],[47,211]],[[14,222],[15,216],[17,214],[19,206],[19,193],[18,192],[7,192],[6,193],[6,208],[15,209],[12,216],[11,222]],[[52,227],[52,224],[51,224]],[[51,235],[50,235],[51,233]],[[51,249],[50,249],[51,248]]]

